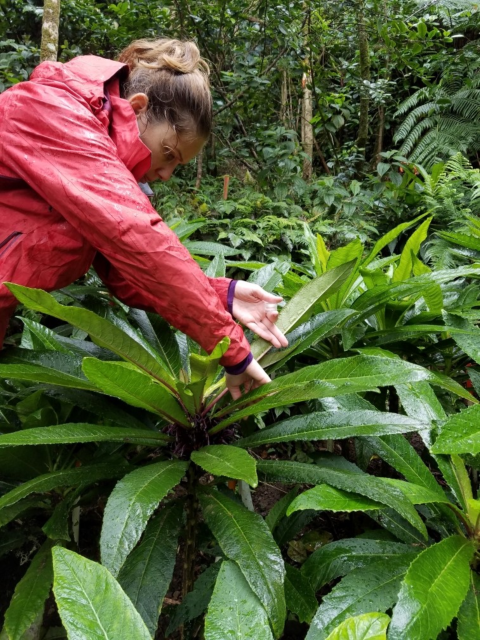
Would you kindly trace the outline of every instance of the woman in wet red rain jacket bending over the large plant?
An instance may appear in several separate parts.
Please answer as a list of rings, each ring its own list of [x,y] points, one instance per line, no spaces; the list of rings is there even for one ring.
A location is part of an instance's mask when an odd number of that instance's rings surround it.
[[[16,307],[3,283],[52,291],[93,264],[118,299],[207,352],[228,336],[221,364],[234,398],[270,380],[235,319],[286,346],[264,304],[281,298],[207,278],[139,186],[190,162],[211,127],[208,66],[193,42],[44,62],[0,95],[0,347]]]

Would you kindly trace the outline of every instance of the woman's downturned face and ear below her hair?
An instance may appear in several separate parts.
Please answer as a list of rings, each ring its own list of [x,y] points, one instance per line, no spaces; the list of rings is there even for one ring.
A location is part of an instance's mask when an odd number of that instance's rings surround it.
[[[177,134],[167,122],[152,124],[146,121],[148,98],[137,93],[127,98],[138,122],[140,139],[152,152],[150,169],[140,182],[169,180],[179,164],[187,164],[202,150],[205,140],[186,134]]]

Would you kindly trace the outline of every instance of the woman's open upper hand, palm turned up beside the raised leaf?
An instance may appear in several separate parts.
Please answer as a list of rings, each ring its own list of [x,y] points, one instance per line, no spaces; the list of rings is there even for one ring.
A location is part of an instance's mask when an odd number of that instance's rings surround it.
[[[237,280],[232,305],[233,317],[277,349],[286,347],[287,339],[274,324],[278,319],[278,312],[267,312],[265,309],[265,302],[278,304],[282,300],[283,298],[268,293],[258,284]]]

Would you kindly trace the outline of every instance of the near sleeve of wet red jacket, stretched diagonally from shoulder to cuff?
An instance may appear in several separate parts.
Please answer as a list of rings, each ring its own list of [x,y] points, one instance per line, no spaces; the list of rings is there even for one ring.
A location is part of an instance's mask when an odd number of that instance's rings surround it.
[[[207,352],[229,336],[222,364],[244,360],[250,345],[242,328],[141,192],[88,104],[55,83],[21,83],[3,99],[4,164],[170,324]]]

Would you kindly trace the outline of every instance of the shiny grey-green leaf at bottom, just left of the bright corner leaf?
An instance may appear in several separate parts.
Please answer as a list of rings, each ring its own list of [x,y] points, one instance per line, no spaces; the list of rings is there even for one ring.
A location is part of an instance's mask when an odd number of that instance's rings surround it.
[[[390,609],[410,560],[400,556],[349,573],[323,598],[305,640],[326,640],[341,622],[368,609]]]

